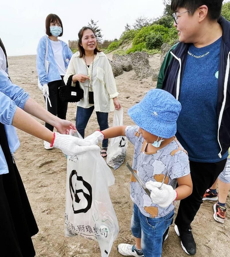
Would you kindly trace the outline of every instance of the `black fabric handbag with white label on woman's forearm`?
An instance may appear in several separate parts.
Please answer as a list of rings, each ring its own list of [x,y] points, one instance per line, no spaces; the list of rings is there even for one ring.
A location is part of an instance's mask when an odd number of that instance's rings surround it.
[[[74,75],[70,75],[67,81],[66,86],[60,86],[59,89],[59,97],[63,102],[75,103],[79,102],[84,97],[84,90],[80,88],[79,82],[76,81],[76,86],[72,87],[72,77]]]

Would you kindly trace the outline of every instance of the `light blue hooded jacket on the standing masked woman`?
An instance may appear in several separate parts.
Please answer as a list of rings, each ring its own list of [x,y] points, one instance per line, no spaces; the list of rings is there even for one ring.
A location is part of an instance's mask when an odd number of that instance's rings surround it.
[[[47,61],[49,61],[48,74],[46,74],[46,71],[45,71],[46,39],[48,40],[48,54],[47,54]],[[62,56],[65,63],[65,68],[67,69],[73,53],[65,42],[61,40],[60,42],[62,44]],[[54,59],[53,49],[51,47],[50,39],[46,35],[40,39],[37,47],[37,73],[38,73],[40,84],[42,86],[44,84],[48,84],[51,81],[62,79]]]

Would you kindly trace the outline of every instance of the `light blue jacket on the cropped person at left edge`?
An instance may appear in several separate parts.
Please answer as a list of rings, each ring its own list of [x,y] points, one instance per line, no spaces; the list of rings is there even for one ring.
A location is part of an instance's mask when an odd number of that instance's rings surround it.
[[[4,124],[11,154],[20,146],[14,126],[12,126],[16,108],[24,108],[29,94],[22,88],[13,84],[7,76],[0,71],[0,122]],[[0,135],[1,136],[1,135]],[[8,167],[0,146],[0,175],[8,173]]]

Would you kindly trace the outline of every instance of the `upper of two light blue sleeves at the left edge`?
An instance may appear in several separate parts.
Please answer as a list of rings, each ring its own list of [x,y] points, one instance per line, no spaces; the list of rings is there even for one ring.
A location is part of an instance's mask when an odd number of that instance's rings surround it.
[[[7,76],[0,71],[0,92],[14,101],[15,105],[23,109],[29,98],[28,92],[13,84]],[[3,102],[1,101],[1,106]],[[1,107],[2,108],[2,107]]]

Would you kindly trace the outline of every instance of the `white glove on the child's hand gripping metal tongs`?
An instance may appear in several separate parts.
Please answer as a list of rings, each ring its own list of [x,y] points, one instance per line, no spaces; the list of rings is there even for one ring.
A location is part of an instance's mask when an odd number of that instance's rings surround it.
[[[152,191],[150,194],[152,202],[162,208],[168,207],[177,198],[176,190],[170,185],[163,184],[160,189],[161,182],[148,181],[145,186]]]

